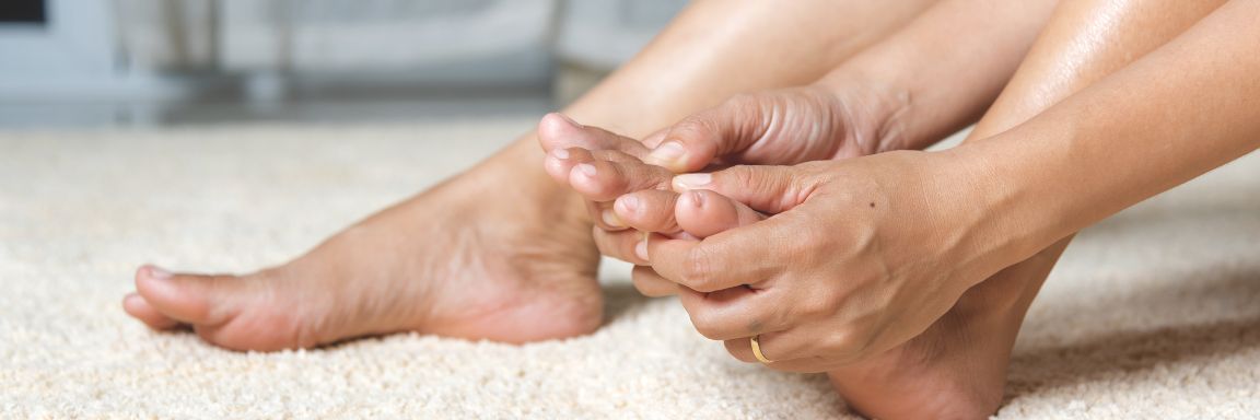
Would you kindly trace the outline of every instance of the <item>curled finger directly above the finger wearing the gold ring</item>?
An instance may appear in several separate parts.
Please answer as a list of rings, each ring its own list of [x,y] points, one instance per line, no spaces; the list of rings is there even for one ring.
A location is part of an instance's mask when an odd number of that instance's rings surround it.
[[[776,290],[750,286],[713,293],[679,288],[678,299],[701,335],[724,341],[791,328],[790,304],[784,304],[776,294]]]

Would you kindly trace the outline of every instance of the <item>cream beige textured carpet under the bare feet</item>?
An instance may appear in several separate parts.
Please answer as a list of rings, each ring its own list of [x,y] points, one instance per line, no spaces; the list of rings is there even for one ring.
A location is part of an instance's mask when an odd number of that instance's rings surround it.
[[[606,270],[604,329],[523,347],[244,354],[120,309],[136,265],[284,261],[529,126],[0,134],[0,417],[845,416],[823,377],[730,358],[624,266]],[[1260,155],[1081,235],[1008,400],[999,419],[1260,419]]]

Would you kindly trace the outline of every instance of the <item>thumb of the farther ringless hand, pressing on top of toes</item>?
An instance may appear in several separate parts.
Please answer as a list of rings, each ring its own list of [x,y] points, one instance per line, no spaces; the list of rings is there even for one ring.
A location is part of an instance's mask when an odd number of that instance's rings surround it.
[[[776,101],[740,95],[669,127],[645,161],[673,172],[703,169],[713,160],[748,149],[774,127]]]

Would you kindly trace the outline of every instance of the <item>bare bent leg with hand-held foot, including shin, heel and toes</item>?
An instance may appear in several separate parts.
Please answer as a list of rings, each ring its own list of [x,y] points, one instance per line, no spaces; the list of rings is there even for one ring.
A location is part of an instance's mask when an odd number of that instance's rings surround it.
[[[1203,3],[1153,5],[1110,0],[1063,5],[971,141],[1032,117],[1157,48],[1215,8]],[[595,149],[616,149],[617,143],[630,143],[610,139],[611,135],[591,127],[568,130],[568,136],[585,135]],[[590,165],[588,173],[573,170],[582,164]],[[683,230],[703,237],[760,218],[716,193],[678,197],[662,190],[668,189],[668,172],[617,151],[570,149],[563,156],[552,155],[548,170],[592,201],[638,190],[626,195],[636,198],[636,212],[624,213],[645,218],[622,219],[641,231]],[[673,213],[662,211],[670,207]],[[905,346],[829,372],[837,390],[850,406],[876,417],[988,416],[1000,402],[1011,348],[1024,312],[1065,245],[1066,241],[969,290],[949,314]],[[727,346],[746,351],[748,344],[728,341]]]

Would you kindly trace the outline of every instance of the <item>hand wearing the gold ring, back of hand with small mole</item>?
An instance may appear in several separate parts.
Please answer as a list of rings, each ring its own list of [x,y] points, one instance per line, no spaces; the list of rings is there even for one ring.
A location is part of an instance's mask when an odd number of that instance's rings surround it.
[[[896,151],[796,166],[733,166],[674,178],[774,214],[702,241],[654,238],[651,266],[675,281],[696,328],[772,368],[822,372],[919,335],[1002,256],[988,206],[945,153]]]

